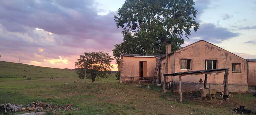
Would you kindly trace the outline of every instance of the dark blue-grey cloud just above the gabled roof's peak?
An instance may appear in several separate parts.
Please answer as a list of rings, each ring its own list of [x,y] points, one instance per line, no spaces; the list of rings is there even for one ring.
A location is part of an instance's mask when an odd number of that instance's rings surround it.
[[[187,41],[206,40],[212,43],[221,43],[224,40],[228,40],[232,37],[239,36],[240,33],[234,33],[227,28],[216,27],[214,24],[200,24],[200,27],[196,32],[192,32]],[[185,40],[186,41],[186,40]]]

